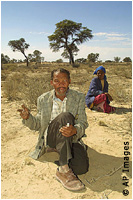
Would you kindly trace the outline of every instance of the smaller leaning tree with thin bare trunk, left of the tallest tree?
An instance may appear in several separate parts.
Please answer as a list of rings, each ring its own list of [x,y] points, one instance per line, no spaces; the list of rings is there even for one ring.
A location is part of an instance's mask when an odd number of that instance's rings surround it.
[[[28,57],[25,55],[25,50],[28,49],[30,45],[25,42],[25,39],[20,38],[19,40],[11,40],[8,42],[8,45],[11,47],[11,49],[14,52],[19,51],[24,55],[27,62],[27,67],[28,67],[29,61],[28,61]]]

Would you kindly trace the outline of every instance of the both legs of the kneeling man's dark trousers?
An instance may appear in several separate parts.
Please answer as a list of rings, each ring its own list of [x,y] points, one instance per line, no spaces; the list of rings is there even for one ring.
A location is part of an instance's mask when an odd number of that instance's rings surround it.
[[[48,127],[47,144],[56,148],[59,153],[59,165],[68,164],[75,174],[84,174],[88,171],[89,160],[87,152],[80,143],[72,143],[72,137],[65,137],[59,131],[67,123],[74,126],[74,116],[69,112],[58,115]]]

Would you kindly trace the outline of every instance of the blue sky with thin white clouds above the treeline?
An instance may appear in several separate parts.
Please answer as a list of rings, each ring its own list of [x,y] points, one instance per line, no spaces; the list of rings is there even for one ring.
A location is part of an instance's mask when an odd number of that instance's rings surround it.
[[[10,40],[24,38],[30,45],[26,55],[39,50],[45,61],[68,61],[61,57],[63,49],[52,52],[48,40],[64,19],[82,23],[94,36],[78,45],[75,59],[90,53],[99,53],[102,61],[132,59],[132,1],[1,1],[1,53],[25,59],[8,46]]]

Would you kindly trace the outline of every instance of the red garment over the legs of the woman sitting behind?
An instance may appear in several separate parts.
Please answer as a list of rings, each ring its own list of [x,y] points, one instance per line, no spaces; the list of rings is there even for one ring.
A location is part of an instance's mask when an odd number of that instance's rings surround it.
[[[97,106],[97,108],[101,108],[105,113],[110,113],[112,111],[115,111],[115,108],[107,103],[107,97],[105,94],[100,94],[96,96],[93,104],[94,106]]]

